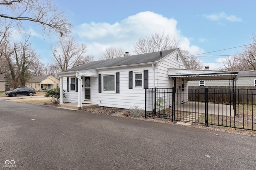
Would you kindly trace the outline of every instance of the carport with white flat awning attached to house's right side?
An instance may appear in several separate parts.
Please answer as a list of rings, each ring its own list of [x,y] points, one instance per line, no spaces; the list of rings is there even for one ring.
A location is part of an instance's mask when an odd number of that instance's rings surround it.
[[[186,81],[199,81],[199,80],[212,80],[212,81],[218,81],[218,80],[229,80],[230,81],[230,89],[236,88],[236,75],[238,72],[229,72],[229,71],[216,71],[216,70],[187,70],[187,69],[168,69],[168,77],[173,78],[174,80],[176,78],[183,78]],[[176,88],[176,87],[175,87]],[[183,111],[191,113],[188,117],[189,121],[196,121],[197,118],[200,117],[200,115],[205,114],[206,112],[208,114],[212,115],[225,115],[225,116],[234,116],[234,107],[232,106],[232,103],[230,104],[220,104],[219,102],[210,102],[210,107],[208,106],[208,103],[206,104],[206,90],[207,95],[217,95],[216,94],[220,90],[214,90],[214,89],[188,89],[186,86],[186,89],[177,89],[175,92],[175,109],[177,111]],[[217,91],[217,92],[216,92]],[[231,90],[229,91],[231,92]],[[223,92],[222,92],[223,94]],[[198,99],[192,99],[190,96],[197,96],[195,98]],[[223,96],[223,95],[222,95]],[[215,97],[215,96],[214,96]],[[229,94],[229,97],[231,95]],[[201,101],[200,101],[201,98]],[[217,99],[218,100],[218,99]],[[182,101],[182,102],[180,102]],[[207,106],[206,106],[207,105]],[[207,109],[206,109],[207,108]],[[186,121],[186,118],[183,119],[183,121]],[[191,120],[190,120],[191,119]]]

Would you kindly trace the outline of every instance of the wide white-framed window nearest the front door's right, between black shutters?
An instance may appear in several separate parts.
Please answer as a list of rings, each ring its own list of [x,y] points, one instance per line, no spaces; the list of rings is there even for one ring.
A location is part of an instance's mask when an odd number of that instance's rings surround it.
[[[116,74],[103,74],[102,80],[103,92],[116,92]]]

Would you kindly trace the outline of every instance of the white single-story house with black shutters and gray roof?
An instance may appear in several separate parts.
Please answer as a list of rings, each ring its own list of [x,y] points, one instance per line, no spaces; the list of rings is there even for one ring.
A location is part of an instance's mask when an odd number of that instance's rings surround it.
[[[60,104],[78,103],[80,108],[83,103],[88,103],[144,109],[145,88],[188,88],[188,77],[182,76],[184,70],[186,65],[179,49],[132,56],[126,52],[124,57],[93,61],[58,73]],[[226,76],[234,73],[218,74]],[[66,98],[63,98],[62,90],[66,90]]]

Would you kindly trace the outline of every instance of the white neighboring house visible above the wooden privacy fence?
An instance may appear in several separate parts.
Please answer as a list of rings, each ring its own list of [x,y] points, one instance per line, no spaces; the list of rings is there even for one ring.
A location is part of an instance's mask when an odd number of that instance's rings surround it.
[[[234,85],[238,87],[243,86],[256,86],[256,70],[252,71],[239,71],[236,76],[236,82]],[[233,82],[229,80],[198,80],[189,81],[188,86],[233,86]]]

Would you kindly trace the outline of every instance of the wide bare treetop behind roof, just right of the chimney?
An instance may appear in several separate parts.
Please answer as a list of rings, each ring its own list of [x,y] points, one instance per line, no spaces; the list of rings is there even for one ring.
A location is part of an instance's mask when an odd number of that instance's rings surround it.
[[[178,48],[179,41],[171,35],[163,33],[151,33],[146,37],[138,39],[134,45],[134,52],[136,54],[152,53],[155,51],[164,51]]]

